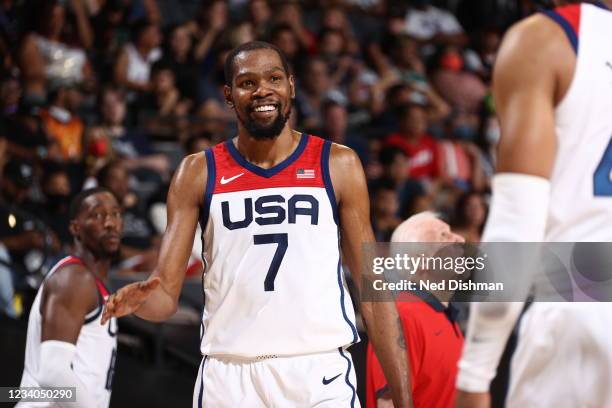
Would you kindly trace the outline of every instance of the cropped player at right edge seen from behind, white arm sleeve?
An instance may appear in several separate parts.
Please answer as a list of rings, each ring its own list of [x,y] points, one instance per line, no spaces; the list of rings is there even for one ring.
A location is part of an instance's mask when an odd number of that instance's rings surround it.
[[[494,72],[502,126],[485,241],[612,241],[612,1],[534,15]],[[489,384],[522,303],[473,304],[457,405]],[[522,319],[509,407],[609,407],[610,303],[535,303]]]

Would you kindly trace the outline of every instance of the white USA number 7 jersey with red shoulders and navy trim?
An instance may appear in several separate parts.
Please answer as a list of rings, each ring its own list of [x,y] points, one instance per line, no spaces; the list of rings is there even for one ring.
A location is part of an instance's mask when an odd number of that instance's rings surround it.
[[[299,355],[359,340],[330,147],[304,134],[270,169],[249,163],[231,140],[206,151],[203,355]]]

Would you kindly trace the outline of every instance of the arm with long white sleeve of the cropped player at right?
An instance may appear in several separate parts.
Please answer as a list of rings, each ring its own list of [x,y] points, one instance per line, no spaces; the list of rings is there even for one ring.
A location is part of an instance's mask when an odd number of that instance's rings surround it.
[[[544,238],[556,153],[555,106],[569,88],[575,60],[562,29],[544,15],[518,23],[504,38],[493,76],[502,137],[483,241]],[[490,404],[490,381],[521,306],[472,305],[459,363],[458,407]]]

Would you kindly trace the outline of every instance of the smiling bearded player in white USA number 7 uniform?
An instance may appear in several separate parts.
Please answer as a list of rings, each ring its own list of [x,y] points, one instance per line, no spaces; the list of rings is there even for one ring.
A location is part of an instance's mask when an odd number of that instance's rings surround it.
[[[341,259],[342,249],[359,286],[362,244],[374,240],[359,159],[289,127],[295,88],[276,47],[237,47],[225,75],[238,135],[184,159],[148,281],[159,286],[122,288],[104,319],[175,312],[199,220],[206,301],[193,406],[359,406],[345,350],[359,337]],[[361,310],[396,406],[411,406],[395,305]]]

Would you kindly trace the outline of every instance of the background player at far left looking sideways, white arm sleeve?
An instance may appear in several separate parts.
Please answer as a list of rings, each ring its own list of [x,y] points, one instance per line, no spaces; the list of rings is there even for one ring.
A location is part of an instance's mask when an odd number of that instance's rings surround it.
[[[20,402],[19,408],[108,407],[117,324],[101,320],[104,282],[122,225],[119,204],[107,190],[84,190],[74,198],[70,233],[76,249],[49,271],[32,304],[21,387],[76,387],[76,402]]]

